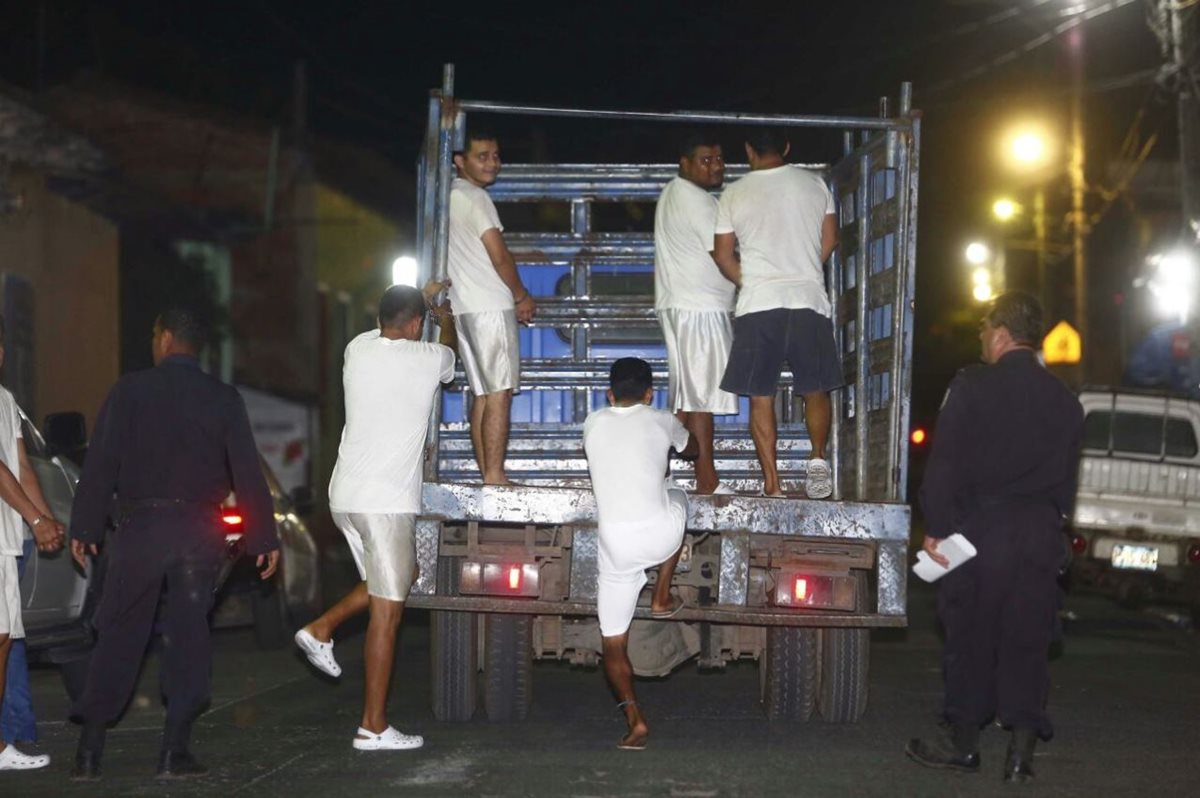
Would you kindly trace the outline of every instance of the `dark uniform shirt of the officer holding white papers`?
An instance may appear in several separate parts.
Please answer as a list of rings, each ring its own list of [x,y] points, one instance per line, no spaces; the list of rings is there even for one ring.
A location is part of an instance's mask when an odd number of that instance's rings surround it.
[[[1084,410],[1028,349],[950,382],[920,486],[930,538],[961,532],[982,506],[1052,503],[1069,516]]]

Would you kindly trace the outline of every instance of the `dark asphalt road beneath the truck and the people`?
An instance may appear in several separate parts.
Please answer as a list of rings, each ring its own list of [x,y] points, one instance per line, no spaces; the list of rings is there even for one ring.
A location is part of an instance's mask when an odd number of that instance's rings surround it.
[[[67,772],[77,727],[54,670],[32,674],[43,718],[44,770],[0,774],[8,796],[1186,796],[1200,791],[1200,640],[1186,625],[1106,600],[1073,596],[1051,708],[1057,738],[1038,749],[1038,779],[1000,782],[1007,734],[989,730],[983,770],[944,774],[911,763],[905,740],[932,728],[941,695],[932,592],[914,586],[911,625],[872,642],[871,700],[862,722],[769,724],[757,706],[754,662],[725,673],[683,666],[640,684],[649,748],[613,746],[623,724],[594,670],[535,667],[530,719],[439,724],[428,706],[428,625],[413,612],[402,631],[391,719],[426,737],[409,752],[358,752],[361,631],[338,643],[341,683],[313,674],[292,650],[258,652],[248,631],[216,636],[212,706],[194,751],[202,781],[154,779],[162,722],[151,656],[138,695],[109,736],[104,780]]]

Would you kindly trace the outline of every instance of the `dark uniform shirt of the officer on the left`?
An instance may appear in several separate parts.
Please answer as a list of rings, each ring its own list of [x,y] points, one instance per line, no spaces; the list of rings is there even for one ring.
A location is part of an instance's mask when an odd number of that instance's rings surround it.
[[[275,505],[263,476],[241,395],[200,370],[196,358],[170,355],[122,377],[96,419],[71,510],[71,535],[104,536],[118,502],[174,499],[211,504],[229,492],[245,518],[246,552],[278,548]]]

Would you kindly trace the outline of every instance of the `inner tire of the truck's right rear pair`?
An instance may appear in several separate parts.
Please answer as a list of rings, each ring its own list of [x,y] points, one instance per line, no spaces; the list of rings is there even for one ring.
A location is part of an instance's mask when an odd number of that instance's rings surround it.
[[[817,697],[816,629],[768,626],[758,662],[762,708],[769,720],[806,721]]]

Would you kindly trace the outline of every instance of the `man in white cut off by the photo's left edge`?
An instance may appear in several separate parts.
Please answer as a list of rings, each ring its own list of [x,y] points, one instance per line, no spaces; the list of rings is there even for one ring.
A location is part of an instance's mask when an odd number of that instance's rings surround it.
[[[4,319],[0,318],[0,365],[4,364]],[[34,530],[37,550],[62,548],[62,524],[46,504],[37,474],[25,454],[17,401],[0,386],[0,703],[4,701],[8,652],[25,637],[20,617],[20,577],[17,558],[24,554],[25,527]],[[50,757],[31,756],[0,738],[0,770],[44,768]]]

